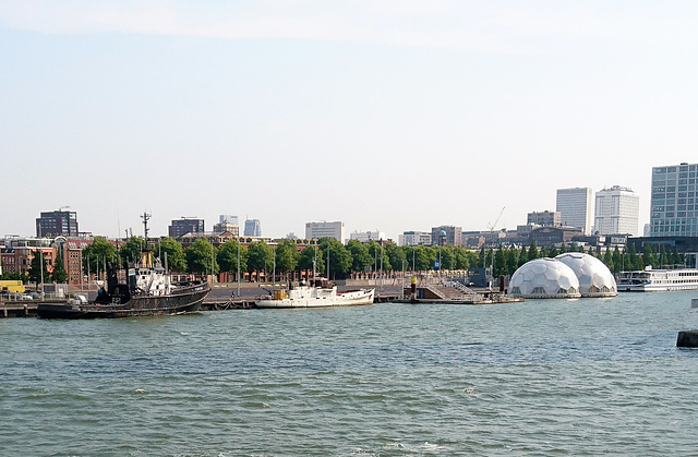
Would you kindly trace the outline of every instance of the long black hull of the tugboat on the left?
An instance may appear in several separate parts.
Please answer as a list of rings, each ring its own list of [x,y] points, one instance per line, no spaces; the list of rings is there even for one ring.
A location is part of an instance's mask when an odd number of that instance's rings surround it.
[[[41,303],[36,313],[43,318],[116,318],[172,315],[196,312],[210,289],[206,285],[160,297],[132,297],[122,304]]]

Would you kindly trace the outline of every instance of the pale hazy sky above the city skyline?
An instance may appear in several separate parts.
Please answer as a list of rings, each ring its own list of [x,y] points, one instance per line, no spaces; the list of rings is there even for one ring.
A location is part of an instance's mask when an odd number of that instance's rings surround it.
[[[3,234],[509,230],[697,163],[698,2],[0,0]]]

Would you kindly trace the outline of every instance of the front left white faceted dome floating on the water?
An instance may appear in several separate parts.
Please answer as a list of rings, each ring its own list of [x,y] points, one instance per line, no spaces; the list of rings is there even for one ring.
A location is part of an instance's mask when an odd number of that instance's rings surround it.
[[[575,272],[555,258],[535,258],[521,265],[512,276],[508,293],[531,299],[581,297]]]

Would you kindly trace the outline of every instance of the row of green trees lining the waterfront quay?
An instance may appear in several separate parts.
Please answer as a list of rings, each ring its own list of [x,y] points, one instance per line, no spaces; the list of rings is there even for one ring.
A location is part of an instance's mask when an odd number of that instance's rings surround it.
[[[528,248],[504,248],[496,250],[473,251],[462,246],[398,246],[392,242],[378,243],[372,241],[363,244],[350,240],[346,245],[330,238],[324,238],[317,245],[311,245],[303,251],[298,250],[292,240],[282,240],[275,248],[264,241],[250,245],[239,245],[237,240],[229,240],[218,249],[207,240],[198,239],[192,245],[183,249],[172,238],[160,239],[156,245],[146,245],[142,237],[131,237],[119,249],[105,238],[96,237],[94,242],[82,253],[84,272],[97,274],[104,272],[108,264],[122,267],[127,262],[141,258],[141,253],[149,249],[154,251],[163,263],[173,272],[194,274],[218,274],[229,272],[232,277],[239,273],[269,274],[275,272],[278,278],[286,278],[296,270],[313,270],[320,274],[328,273],[329,277],[344,278],[351,273],[359,272],[423,272],[434,268],[448,270],[467,270],[477,267],[491,267],[494,276],[509,276],[526,262],[539,257],[554,257],[563,252],[583,252],[575,243],[563,244],[562,248],[541,248],[535,244]],[[667,252],[662,244],[659,250],[647,244],[642,253],[617,246],[605,250],[589,248],[588,252],[600,258],[609,268],[617,274],[621,270],[642,269],[651,265],[654,268],[684,263],[683,254],[675,250]],[[40,255],[32,261],[29,274],[3,275],[3,279],[23,279],[38,282],[44,269],[45,280],[65,282],[68,277],[62,260],[57,256],[53,273],[48,274],[46,263],[41,265]],[[329,265],[327,265],[329,260]],[[265,275],[266,277],[266,275]]]

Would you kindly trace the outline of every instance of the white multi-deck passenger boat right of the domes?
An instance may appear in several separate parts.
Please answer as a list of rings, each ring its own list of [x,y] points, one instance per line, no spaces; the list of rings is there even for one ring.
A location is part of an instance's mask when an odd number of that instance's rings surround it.
[[[621,272],[618,292],[665,292],[697,290],[698,268],[652,269]]]

